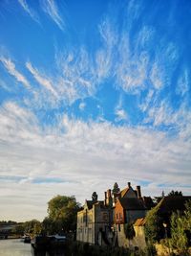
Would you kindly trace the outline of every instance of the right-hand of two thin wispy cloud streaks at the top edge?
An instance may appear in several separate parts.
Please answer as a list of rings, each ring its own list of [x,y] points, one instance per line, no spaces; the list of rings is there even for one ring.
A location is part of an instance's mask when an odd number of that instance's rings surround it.
[[[58,12],[58,8],[54,0],[43,0],[42,1],[42,9],[46,12],[52,19],[53,22],[60,28],[60,30],[64,30],[65,22],[63,18]]]

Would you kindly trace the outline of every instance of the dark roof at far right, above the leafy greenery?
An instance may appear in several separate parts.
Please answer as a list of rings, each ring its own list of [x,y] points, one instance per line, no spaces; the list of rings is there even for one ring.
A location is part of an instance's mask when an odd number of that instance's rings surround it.
[[[185,202],[191,200],[191,197],[170,196],[164,197],[159,201],[159,213],[172,213],[177,210],[185,209]],[[157,205],[158,206],[158,205]]]

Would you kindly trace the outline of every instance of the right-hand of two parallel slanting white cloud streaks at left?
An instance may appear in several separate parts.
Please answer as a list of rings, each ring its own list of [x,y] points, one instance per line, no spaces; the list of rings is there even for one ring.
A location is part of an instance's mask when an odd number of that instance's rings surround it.
[[[41,84],[47,90],[52,92],[55,97],[58,97],[57,92],[54,90],[53,83],[50,79],[45,78],[43,75],[40,74],[40,72],[37,69],[33,68],[31,62],[27,62],[26,66],[29,69],[29,71],[32,73],[34,79],[38,81],[39,84]]]

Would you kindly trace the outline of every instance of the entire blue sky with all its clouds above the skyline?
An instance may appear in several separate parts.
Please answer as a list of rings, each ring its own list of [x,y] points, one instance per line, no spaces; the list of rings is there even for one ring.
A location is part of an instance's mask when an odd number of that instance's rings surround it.
[[[188,0],[0,1],[0,219],[116,181],[190,195],[190,16]]]

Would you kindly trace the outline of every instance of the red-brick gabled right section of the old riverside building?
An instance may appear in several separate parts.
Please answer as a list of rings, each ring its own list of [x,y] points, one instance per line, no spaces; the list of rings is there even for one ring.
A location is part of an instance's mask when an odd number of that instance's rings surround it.
[[[153,201],[151,198],[142,198],[140,186],[137,186],[137,189],[134,190],[131,186],[131,183],[128,182],[128,186],[123,189],[117,200],[115,199],[114,205],[114,230],[117,235],[117,244],[118,246],[124,247],[136,247],[138,246],[138,240],[144,241],[144,238],[135,231],[134,224],[138,219],[142,219],[146,216],[147,211],[152,207]],[[138,223],[138,222],[137,222]],[[132,227],[134,238],[128,239],[126,229]],[[145,243],[141,243],[141,248],[145,246]],[[139,246],[138,246],[139,247]]]

